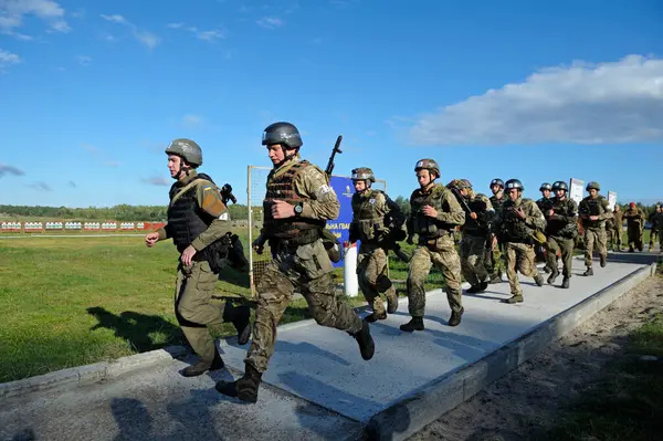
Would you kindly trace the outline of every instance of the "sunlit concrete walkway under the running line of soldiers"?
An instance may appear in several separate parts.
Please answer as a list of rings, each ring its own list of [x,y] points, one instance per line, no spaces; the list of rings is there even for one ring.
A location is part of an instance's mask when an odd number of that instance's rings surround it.
[[[445,295],[433,291],[427,297],[427,329],[422,333],[398,328],[409,321],[403,298],[397,314],[371,326],[376,355],[368,363],[343,332],[312,322],[285,326],[278,329],[276,351],[263,380],[368,423],[403,398],[475,364],[644,266],[611,262],[604,269],[597,265],[593,277],[583,277],[579,275],[582,262],[575,261],[570,290],[538,287],[533,280],[522,280],[525,302],[517,305],[499,302],[509,296],[506,282],[491,285],[485,293],[463,296],[465,314],[455,328],[446,326],[450,309]],[[243,369],[245,347],[221,342],[220,350],[227,364]]]

